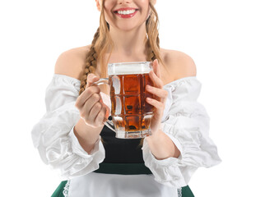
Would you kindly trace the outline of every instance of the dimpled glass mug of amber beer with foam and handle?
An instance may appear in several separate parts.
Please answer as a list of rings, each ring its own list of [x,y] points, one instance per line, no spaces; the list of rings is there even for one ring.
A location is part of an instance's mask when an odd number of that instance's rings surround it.
[[[109,63],[109,78],[101,78],[95,85],[110,86],[111,117],[105,125],[115,131],[116,138],[137,139],[151,135],[154,107],[146,98],[154,98],[146,85],[153,85],[149,76],[151,62]]]

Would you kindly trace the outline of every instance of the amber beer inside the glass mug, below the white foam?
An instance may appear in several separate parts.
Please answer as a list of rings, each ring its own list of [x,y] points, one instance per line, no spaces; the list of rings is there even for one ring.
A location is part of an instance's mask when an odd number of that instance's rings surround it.
[[[142,131],[145,136],[150,131],[153,106],[146,98],[153,98],[146,85],[153,85],[148,73],[109,76],[111,116],[118,131],[127,131],[134,137]],[[144,132],[143,132],[144,131]],[[128,135],[129,135],[128,134]]]

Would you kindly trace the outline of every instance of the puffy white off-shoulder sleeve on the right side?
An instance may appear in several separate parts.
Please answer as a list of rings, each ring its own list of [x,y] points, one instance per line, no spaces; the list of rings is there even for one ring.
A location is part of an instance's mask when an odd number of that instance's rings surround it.
[[[221,162],[216,145],[209,137],[210,117],[197,101],[201,87],[196,76],[175,80],[164,87],[169,95],[161,121],[162,131],[179,149],[179,158],[156,159],[144,140],[145,165],[155,180],[166,186],[186,186],[198,167],[212,167]]]

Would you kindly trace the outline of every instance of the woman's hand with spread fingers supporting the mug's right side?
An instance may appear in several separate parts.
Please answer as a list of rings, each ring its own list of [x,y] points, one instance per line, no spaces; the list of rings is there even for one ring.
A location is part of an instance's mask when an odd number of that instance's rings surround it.
[[[156,108],[151,120],[151,132],[152,135],[154,135],[161,130],[161,118],[164,113],[165,101],[168,96],[168,92],[163,89],[164,85],[163,81],[161,80],[161,71],[157,60],[154,60],[153,71],[149,72],[149,76],[153,81],[154,86],[147,85],[146,89],[149,93],[154,94],[156,98],[146,98],[147,103]]]

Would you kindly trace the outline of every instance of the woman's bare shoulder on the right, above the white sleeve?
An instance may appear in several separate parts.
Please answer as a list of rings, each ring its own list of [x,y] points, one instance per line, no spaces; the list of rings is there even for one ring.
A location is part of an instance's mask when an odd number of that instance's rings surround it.
[[[197,75],[196,65],[188,54],[177,50],[161,48],[161,55],[169,71],[174,73],[174,80]]]

